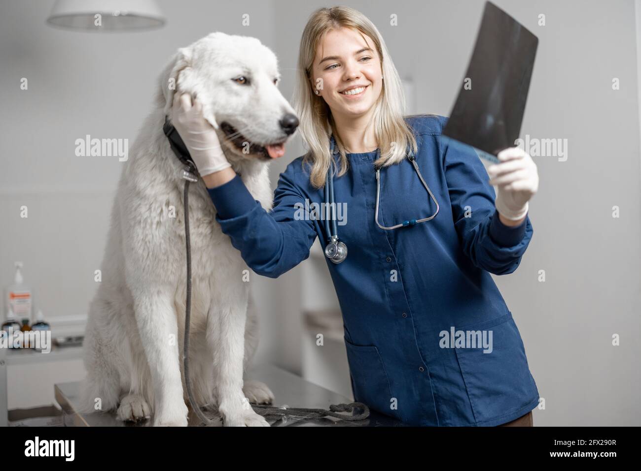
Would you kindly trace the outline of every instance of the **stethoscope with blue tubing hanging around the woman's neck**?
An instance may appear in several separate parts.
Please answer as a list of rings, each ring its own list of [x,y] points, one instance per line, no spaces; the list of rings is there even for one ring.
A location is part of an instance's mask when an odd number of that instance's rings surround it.
[[[331,136],[330,138],[330,152],[333,156],[335,156],[338,152],[335,150],[335,140],[334,136]],[[380,156],[381,150],[378,149],[378,155]],[[374,221],[376,221],[376,225],[378,225],[379,228],[385,229],[385,230],[392,230],[392,229],[397,229],[399,227],[408,227],[408,226],[413,226],[416,223],[422,223],[425,221],[433,220],[436,215],[438,214],[438,201],[437,198],[434,197],[434,194],[431,192],[429,189],[428,184],[425,182],[423,179],[423,176],[420,174],[419,170],[419,164],[416,163],[416,157],[410,152],[410,150],[406,150],[406,157],[407,159],[412,163],[414,170],[416,171],[417,175],[419,175],[420,182],[423,184],[425,189],[428,191],[429,196],[431,196],[432,200],[434,203],[437,205],[437,210],[429,216],[429,218],[422,218],[422,219],[412,219],[409,221],[403,221],[400,224],[396,224],[394,226],[390,227],[385,227],[381,226],[378,223],[378,202],[379,202],[379,195],[381,191],[381,175],[380,169],[376,170],[376,216],[374,216]],[[331,175],[331,177],[330,177]],[[338,230],[337,230],[337,225],[336,225],[336,204],[334,200],[334,173],[331,168],[331,165],[328,169],[327,174],[325,175],[325,207],[330,208],[331,212],[331,230],[329,229],[329,221],[326,218],[325,219],[325,230],[327,234],[329,235],[328,238],[328,244],[325,247],[325,256],[331,260],[334,263],[340,263],[343,260],[347,258],[347,246],[345,243],[341,242],[338,240]]]

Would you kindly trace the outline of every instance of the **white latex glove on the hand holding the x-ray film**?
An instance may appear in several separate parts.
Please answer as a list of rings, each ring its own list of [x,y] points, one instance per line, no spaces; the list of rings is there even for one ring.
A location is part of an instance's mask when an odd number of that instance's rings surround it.
[[[520,147],[508,147],[497,155],[501,163],[490,165],[490,185],[498,186],[494,205],[506,219],[518,221],[528,212],[528,202],[538,190],[537,164]]]

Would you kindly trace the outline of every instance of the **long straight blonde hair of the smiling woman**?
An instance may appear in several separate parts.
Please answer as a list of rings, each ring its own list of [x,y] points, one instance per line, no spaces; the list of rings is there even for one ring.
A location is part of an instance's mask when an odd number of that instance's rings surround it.
[[[303,157],[303,163],[309,163],[312,166],[310,182],[315,188],[322,188],[325,184],[325,175],[331,162],[329,151],[331,134],[334,135],[337,150],[340,153],[340,171],[337,176],[344,175],[349,166],[345,156],[346,150],[338,136],[331,110],[328,104],[313,92],[310,83],[317,46],[329,31],[338,28],[350,28],[361,35],[369,36],[374,42],[381,61],[384,80],[381,95],[374,104],[372,115],[374,137],[381,152],[374,165],[380,168],[403,161],[408,147],[413,154],[417,152],[416,138],[403,118],[405,95],[401,77],[394,67],[383,37],[376,26],[363,13],[347,6],[319,8],[310,16],[301,37],[293,100],[301,123],[298,129],[309,148]]]

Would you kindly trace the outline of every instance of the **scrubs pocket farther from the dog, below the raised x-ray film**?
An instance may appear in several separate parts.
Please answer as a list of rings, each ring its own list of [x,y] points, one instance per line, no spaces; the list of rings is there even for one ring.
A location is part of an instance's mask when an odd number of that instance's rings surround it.
[[[534,378],[512,313],[456,330],[492,331],[492,351],[485,348],[455,348],[467,395],[478,425],[499,420],[538,399]],[[478,334],[476,334],[478,335]],[[489,349],[488,349],[489,350]]]

